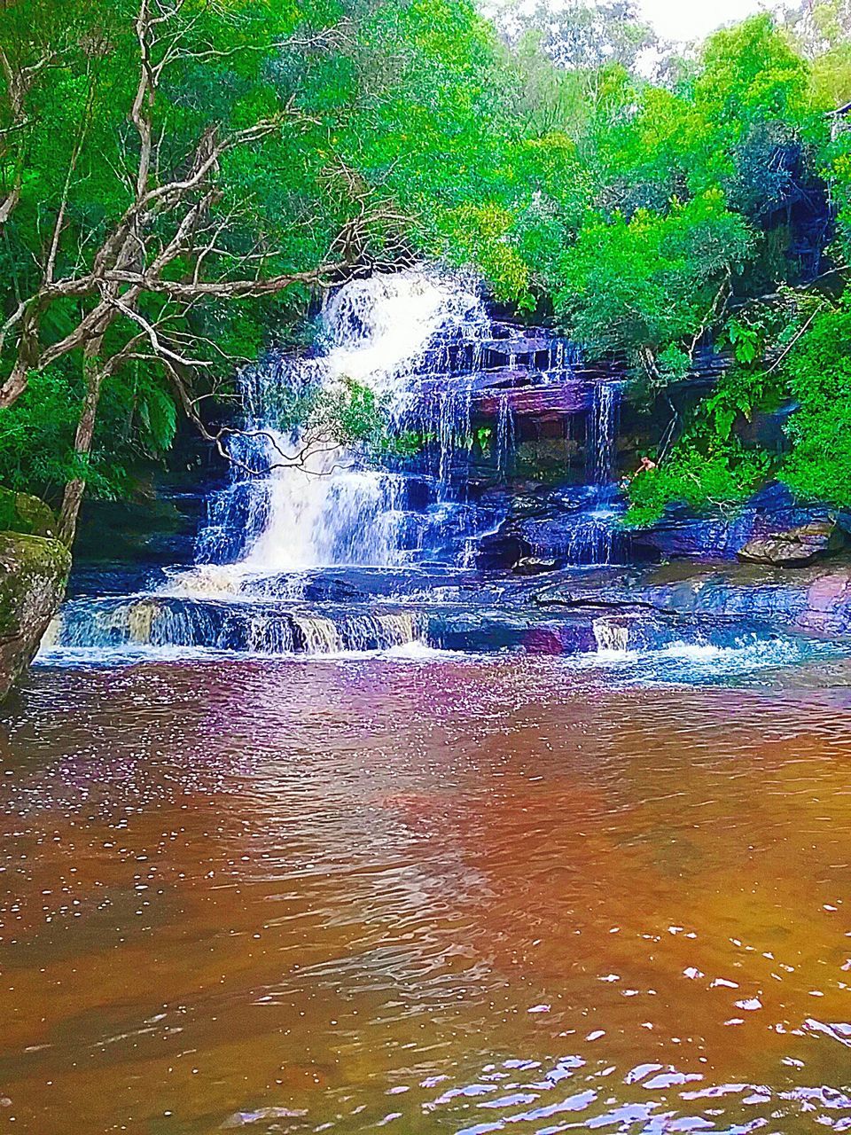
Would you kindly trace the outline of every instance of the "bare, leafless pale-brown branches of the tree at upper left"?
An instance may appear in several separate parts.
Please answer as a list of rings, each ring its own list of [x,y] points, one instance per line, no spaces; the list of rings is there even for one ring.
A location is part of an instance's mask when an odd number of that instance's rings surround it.
[[[201,10],[188,14],[186,0],[137,0],[134,35],[137,44],[138,75],[135,84],[129,120],[138,138],[137,152],[125,173],[130,192],[129,203],[111,230],[92,254],[78,250],[78,263],[66,276],[59,276],[59,249],[65,230],[68,193],[74,178],[79,152],[85,138],[85,120],[71,154],[62,197],[57,207],[52,234],[41,281],[33,293],[22,297],[15,310],[0,326],[0,350],[14,343],[14,358],[5,381],[0,385],[0,407],[12,405],[26,389],[31,372],[47,367],[78,350],[86,350],[91,342],[103,342],[107,331],[117,321],[141,327],[151,348],[163,365],[188,368],[209,367],[191,360],[185,352],[169,346],[158,319],[140,311],[144,297],[160,297],[168,304],[180,304],[183,310],[216,300],[251,300],[278,294],[297,285],[327,287],[349,272],[354,266],[369,258],[373,234],[401,228],[407,218],[391,202],[377,202],[373,191],[363,178],[337,159],[329,167],[326,178],[332,195],[338,196],[351,212],[331,242],[322,262],[313,268],[276,271],[280,250],[262,244],[235,255],[227,247],[228,234],[236,230],[239,208],[231,207],[224,215],[217,213],[222,200],[220,188],[221,162],[226,154],[241,148],[251,148],[286,131],[303,131],[320,125],[305,115],[292,96],[276,115],[250,126],[226,132],[219,124],[210,123],[196,140],[183,162],[170,162],[169,173],[162,177],[162,148],[167,137],[166,121],[155,126],[159,114],[158,93],[166,70],[178,60],[211,59],[220,52],[211,43],[192,44],[201,18]],[[337,45],[348,35],[345,22],[305,36],[295,36],[285,44],[293,50],[322,50]],[[236,53],[245,45],[233,49]],[[246,47],[246,50],[266,50],[267,45]],[[15,73],[12,64],[0,49],[0,66],[15,107],[23,115],[27,84],[53,60],[44,56],[25,70]],[[87,115],[85,116],[87,118]],[[9,200],[2,209],[14,208]],[[177,277],[170,270],[179,257],[188,259],[188,275]],[[268,270],[270,269],[270,270]],[[42,321],[57,301],[75,300],[79,304],[76,325],[59,339],[42,343]],[[146,309],[149,305],[145,305]],[[130,342],[134,342],[130,339]],[[115,358],[121,358],[121,352]],[[116,362],[109,361],[115,369]]]

